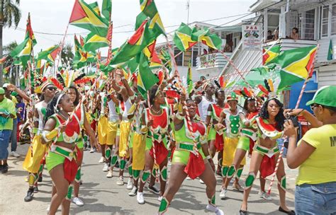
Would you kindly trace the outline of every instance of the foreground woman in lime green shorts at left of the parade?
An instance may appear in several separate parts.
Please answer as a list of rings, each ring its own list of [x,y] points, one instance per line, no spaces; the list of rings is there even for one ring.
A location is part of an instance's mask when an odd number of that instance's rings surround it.
[[[69,115],[74,110],[74,104],[69,95],[63,92],[57,93],[47,105],[45,115],[47,121],[42,132],[42,142],[51,144],[45,160],[52,183],[57,190],[52,196],[49,214],[55,214],[60,204],[62,214],[69,214],[70,202],[66,199],[68,187],[74,181],[79,161],[82,159],[77,143],[81,138],[81,128],[84,127],[89,132],[90,127],[83,107],[78,105],[74,114]]]

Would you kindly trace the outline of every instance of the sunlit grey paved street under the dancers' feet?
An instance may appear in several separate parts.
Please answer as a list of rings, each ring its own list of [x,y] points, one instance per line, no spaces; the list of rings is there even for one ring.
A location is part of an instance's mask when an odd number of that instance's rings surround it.
[[[26,155],[28,145],[18,146],[18,153]],[[159,202],[157,195],[145,190],[146,204],[140,205],[136,197],[129,197],[126,185],[116,185],[117,170],[113,178],[106,178],[106,173],[102,172],[103,165],[99,164],[100,153],[84,153],[84,165],[82,167],[83,185],[79,196],[84,200],[84,207],[71,205],[71,214],[155,214]],[[43,182],[40,183],[37,194],[32,202],[24,202],[23,197],[28,189],[25,182],[27,173],[22,168],[24,156],[21,158],[9,157],[9,173],[0,175],[0,214],[47,214],[47,206],[50,204],[51,180],[47,171],[44,171]],[[286,159],[285,159],[286,160]],[[247,159],[247,163],[250,160]],[[248,169],[245,167],[242,178],[245,179]],[[289,170],[287,173],[287,203],[293,209],[293,188],[297,170]],[[127,176],[127,174],[125,174]],[[242,185],[243,180],[240,181]],[[230,187],[228,198],[221,200],[219,190],[221,179],[218,178],[216,192],[216,203],[225,214],[237,214],[240,209],[242,193],[233,192]],[[125,182],[127,179],[125,178]],[[268,188],[269,182],[267,182]],[[255,180],[254,188],[250,194],[248,210],[250,214],[283,214],[278,209],[279,195],[274,184],[271,197],[272,201],[259,198],[259,179]],[[205,185],[201,185],[198,180],[184,181],[181,189],[175,196],[167,214],[211,214],[205,210],[207,197]],[[60,213],[59,213],[60,214]]]

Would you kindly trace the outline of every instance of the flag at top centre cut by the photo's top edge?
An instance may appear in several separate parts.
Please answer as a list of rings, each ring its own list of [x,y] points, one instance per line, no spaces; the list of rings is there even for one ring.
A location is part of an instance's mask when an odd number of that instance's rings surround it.
[[[135,23],[135,30],[137,30],[140,25],[145,21],[147,17],[150,18],[149,30],[153,34],[163,34],[166,35],[166,31],[164,30],[164,26],[162,24],[161,18],[159,16],[159,12],[157,11],[157,6],[155,5],[154,0],[140,0],[140,9],[141,13],[137,16]]]

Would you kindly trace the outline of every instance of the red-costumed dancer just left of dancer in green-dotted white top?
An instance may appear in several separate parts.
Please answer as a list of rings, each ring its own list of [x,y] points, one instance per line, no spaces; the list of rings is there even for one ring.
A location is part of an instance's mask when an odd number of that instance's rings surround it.
[[[223,111],[225,107],[225,92],[221,88],[217,88],[215,90],[215,98],[217,100],[216,104],[211,104],[208,107],[208,115],[206,117],[206,126],[209,128],[208,131],[208,145],[209,152],[211,157],[215,156],[216,151],[218,151],[218,167],[216,174],[220,174],[220,168],[222,166],[222,158],[223,158],[223,145],[224,145],[224,137],[223,130],[216,131],[215,124],[218,123],[220,119],[220,113]]]

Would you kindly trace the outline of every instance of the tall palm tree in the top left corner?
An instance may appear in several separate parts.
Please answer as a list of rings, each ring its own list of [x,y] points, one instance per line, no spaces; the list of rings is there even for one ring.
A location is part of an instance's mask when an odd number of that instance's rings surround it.
[[[1,8],[0,8],[0,58],[3,55],[2,49],[2,34],[3,28],[10,28],[12,25],[18,27],[18,23],[21,19],[21,11],[18,8],[20,4],[20,0],[0,0]],[[2,74],[2,65],[0,65],[0,86],[3,84],[3,74]]]

